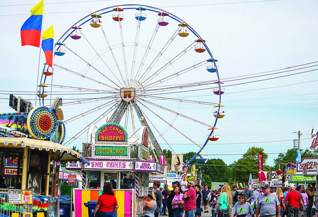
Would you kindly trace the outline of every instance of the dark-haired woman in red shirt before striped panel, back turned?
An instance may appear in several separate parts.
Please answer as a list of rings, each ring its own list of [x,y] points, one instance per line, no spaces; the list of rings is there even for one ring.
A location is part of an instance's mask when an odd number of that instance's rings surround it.
[[[103,189],[103,194],[101,194],[98,198],[93,215],[95,217],[95,214],[99,210],[99,217],[113,217],[113,214],[117,212],[118,208],[113,187],[110,183],[106,183]]]

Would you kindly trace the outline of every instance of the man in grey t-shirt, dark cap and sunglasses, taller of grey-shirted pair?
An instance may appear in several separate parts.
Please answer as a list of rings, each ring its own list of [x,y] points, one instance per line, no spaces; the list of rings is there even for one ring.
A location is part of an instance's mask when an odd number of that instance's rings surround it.
[[[271,194],[271,188],[268,184],[261,187],[263,194],[259,196],[256,208],[256,216],[261,217],[280,217],[280,202],[275,194]]]

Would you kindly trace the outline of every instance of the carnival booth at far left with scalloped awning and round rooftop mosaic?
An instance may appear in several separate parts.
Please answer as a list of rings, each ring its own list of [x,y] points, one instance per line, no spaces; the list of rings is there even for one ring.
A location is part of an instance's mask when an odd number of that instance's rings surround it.
[[[0,216],[43,213],[57,217],[58,162],[88,163],[61,145],[66,130],[60,105],[62,99],[57,97],[51,108],[0,114]]]

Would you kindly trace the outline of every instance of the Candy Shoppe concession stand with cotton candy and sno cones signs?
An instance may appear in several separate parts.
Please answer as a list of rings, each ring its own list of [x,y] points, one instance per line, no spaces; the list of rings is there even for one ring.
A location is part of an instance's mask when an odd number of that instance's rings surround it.
[[[137,132],[139,132],[137,134]],[[137,136],[136,136],[137,134]],[[90,126],[83,143],[83,156],[90,164],[67,164],[67,169],[82,170],[82,189],[74,189],[75,216],[88,217],[105,183],[109,182],[118,201],[117,216],[143,216],[148,194],[149,174],[164,174],[164,166],[149,161],[147,128],[133,135],[117,123]]]

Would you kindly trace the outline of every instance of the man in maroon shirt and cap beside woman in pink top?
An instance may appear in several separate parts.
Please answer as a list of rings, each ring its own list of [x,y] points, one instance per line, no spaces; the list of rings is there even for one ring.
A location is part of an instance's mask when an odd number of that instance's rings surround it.
[[[196,191],[193,188],[194,181],[188,181],[188,190],[183,194],[185,217],[194,217],[197,211]]]

